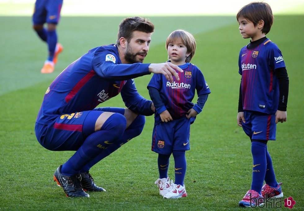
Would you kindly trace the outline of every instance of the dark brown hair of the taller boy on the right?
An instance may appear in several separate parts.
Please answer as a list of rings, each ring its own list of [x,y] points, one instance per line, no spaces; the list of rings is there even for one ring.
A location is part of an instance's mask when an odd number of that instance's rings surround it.
[[[273,14],[271,7],[265,2],[252,2],[245,5],[239,10],[238,14],[236,15],[236,20],[239,21],[239,18],[245,18],[253,22],[254,26],[257,26],[257,23],[260,20],[263,20],[264,27],[262,29],[262,33],[265,34],[270,31],[273,23]]]

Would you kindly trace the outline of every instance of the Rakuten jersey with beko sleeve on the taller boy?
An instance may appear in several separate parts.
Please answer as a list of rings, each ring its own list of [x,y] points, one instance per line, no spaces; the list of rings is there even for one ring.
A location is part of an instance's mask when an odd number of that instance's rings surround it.
[[[243,47],[239,53],[239,74],[244,110],[275,114],[279,105],[279,80],[275,70],[285,67],[275,43],[266,39],[252,50]]]

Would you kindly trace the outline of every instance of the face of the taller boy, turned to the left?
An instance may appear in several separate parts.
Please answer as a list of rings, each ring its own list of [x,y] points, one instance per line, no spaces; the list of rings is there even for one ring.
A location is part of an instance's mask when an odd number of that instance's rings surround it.
[[[255,41],[265,36],[259,24],[254,26],[253,22],[242,17],[238,19],[238,22],[239,31],[244,39],[251,38],[251,41]]]

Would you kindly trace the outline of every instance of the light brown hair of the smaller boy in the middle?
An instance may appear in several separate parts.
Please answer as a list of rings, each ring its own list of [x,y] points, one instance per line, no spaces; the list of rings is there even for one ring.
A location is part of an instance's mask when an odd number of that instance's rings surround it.
[[[175,43],[177,39],[180,39],[187,47],[187,53],[190,53],[190,55],[186,58],[186,62],[190,62],[196,50],[196,42],[193,35],[182,29],[173,31],[166,40],[167,51],[169,43]],[[171,58],[168,57],[168,59],[170,60]]]

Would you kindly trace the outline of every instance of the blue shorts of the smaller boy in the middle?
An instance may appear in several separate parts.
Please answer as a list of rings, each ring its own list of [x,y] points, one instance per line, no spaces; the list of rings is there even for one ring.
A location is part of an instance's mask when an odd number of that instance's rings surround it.
[[[190,150],[190,119],[174,119],[154,125],[152,151],[170,155],[173,150]]]

